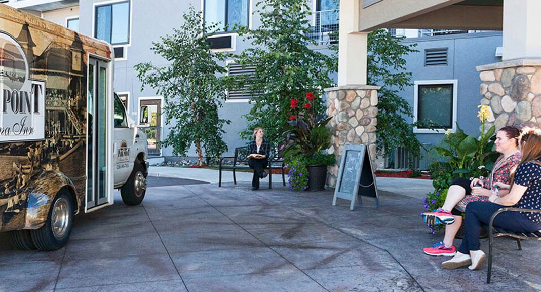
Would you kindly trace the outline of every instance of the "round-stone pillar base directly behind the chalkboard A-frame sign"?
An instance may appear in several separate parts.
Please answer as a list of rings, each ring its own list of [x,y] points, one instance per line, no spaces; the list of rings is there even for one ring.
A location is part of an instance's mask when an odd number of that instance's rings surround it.
[[[325,89],[327,115],[333,116],[328,126],[332,128],[333,144],[329,153],[334,153],[336,163],[327,168],[327,185],[337,183],[340,159],[346,144],[367,144],[375,170],[375,141],[378,119],[379,86],[339,86]]]

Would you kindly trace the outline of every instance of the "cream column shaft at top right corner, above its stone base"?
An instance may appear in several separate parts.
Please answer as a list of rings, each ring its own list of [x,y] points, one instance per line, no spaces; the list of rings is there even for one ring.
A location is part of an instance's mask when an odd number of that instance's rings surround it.
[[[502,60],[540,58],[541,1],[504,0],[503,10]]]

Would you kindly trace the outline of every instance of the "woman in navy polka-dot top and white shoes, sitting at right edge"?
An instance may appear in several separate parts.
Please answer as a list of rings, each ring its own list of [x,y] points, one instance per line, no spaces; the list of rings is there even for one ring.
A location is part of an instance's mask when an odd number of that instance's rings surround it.
[[[511,191],[505,197],[493,193],[489,202],[472,202],[466,206],[464,239],[457,254],[441,263],[444,269],[465,265],[470,265],[470,270],[480,267],[485,259],[485,253],[479,249],[481,224],[489,224],[500,208],[541,209],[541,130],[524,128],[519,141],[522,159],[512,175]],[[493,226],[513,232],[538,231],[541,230],[541,213],[503,212],[494,218]]]

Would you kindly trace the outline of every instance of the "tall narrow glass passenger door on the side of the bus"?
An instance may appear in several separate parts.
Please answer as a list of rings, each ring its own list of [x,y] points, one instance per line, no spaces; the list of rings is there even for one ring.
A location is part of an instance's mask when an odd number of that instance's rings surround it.
[[[109,66],[109,62],[89,57],[85,212],[113,204],[113,79]]]

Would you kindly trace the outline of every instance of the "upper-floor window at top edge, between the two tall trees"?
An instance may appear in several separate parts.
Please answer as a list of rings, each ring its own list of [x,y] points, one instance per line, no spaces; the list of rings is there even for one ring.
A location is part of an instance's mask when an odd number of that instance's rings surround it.
[[[204,0],[204,21],[207,24],[220,23],[222,31],[231,31],[235,24],[247,26],[249,1]]]

